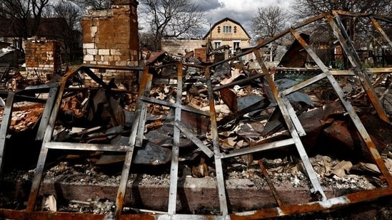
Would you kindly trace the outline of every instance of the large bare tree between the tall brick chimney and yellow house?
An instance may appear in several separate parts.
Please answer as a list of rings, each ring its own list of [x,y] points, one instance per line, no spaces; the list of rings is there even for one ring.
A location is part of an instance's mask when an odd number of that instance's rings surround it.
[[[154,50],[161,49],[164,37],[195,36],[203,22],[203,12],[191,0],[140,0],[139,17],[154,35]]]

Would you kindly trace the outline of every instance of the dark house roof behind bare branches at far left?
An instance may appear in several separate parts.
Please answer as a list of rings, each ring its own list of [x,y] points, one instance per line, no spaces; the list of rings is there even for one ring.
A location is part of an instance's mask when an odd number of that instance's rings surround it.
[[[33,25],[33,19],[28,19],[27,21],[27,37],[31,37],[31,26]],[[41,18],[38,31],[36,36],[46,37],[46,38],[63,38],[64,27],[68,24],[64,18]],[[0,19],[0,36],[1,37],[22,37],[21,27],[24,23],[21,19]]]

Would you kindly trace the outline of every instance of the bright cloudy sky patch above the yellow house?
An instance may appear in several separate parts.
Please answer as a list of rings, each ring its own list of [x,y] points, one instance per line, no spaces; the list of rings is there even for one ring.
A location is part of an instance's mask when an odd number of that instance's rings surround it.
[[[252,34],[251,23],[259,7],[277,5],[289,9],[293,0],[193,0],[202,11],[211,26],[226,17],[238,21],[248,34]],[[207,29],[208,30],[208,29]]]

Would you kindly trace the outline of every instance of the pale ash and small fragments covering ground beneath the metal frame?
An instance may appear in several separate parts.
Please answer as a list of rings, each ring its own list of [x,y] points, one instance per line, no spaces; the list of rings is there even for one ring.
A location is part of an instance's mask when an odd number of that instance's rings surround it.
[[[301,162],[295,157],[275,158],[275,159],[260,159],[268,170],[268,177],[271,178],[275,187],[286,187],[291,189],[308,188],[310,182],[306,177],[306,172],[303,169]],[[316,155],[310,158],[313,169],[318,175],[321,186],[325,189],[343,190],[347,193],[361,191],[363,189],[373,189],[381,187],[383,182],[378,179],[377,172],[373,168],[373,164],[351,164],[344,160],[334,159],[328,156]],[[392,164],[392,160],[384,159],[387,164]],[[258,165],[258,160],[248,162],[244,157],[231,158],[229,162],[223,163],[223,171],[226,179],[248,179],[253,185],[251,187],[267,189],[268,184],[263,172]],[[83,159],[78,161],[61,161],[51,167],[47,167],[44,172],[44,182],[64,182],[68,184],[96,184],[96,185],[110,185],[118,186],[121,177],[121,166],[96,166],[91,159]],[[186,178],[193,177],[193,164],[181,162],[179,166],[179,181],[184,181]],[[363,167],[371,167],[364,172]],[[129,177],[129,184],[134,181],[139,182],[139,185],[155,184],[167,185],[170,184],[170,167],[168,165],[153,166],[152,169],[139,169],[134,166],[131,169]],[[362,169],[360,169],[362,168]],[[141,171],[144,172],[141,172]],[[145,172],[149,170],[149,172]],[[12,172],[4,174],[4,180],[12,180],[16,182],[31,182],[34,177],[34,170],[21,171],[13,170]],[[208,175],[203,178],[215,179],[215,169],[213,162],[208,162]],[[237,186],[241,187],[241,186]],[[246,186],[249,187],[249,186]],[[11,201],[2,198],[1,204],[4,207],[13,209],[23,209],[26,202]],[[376,204],[373,204],[373,206]],[[355,207],[355,206],[354,206]],[[346,211],[345,211],[346,210]],[[352,214],[347,210],[355,210],[351,206],[347,209],[338,209],[338,211],[330,211],[328,214],[303,214],[301,216],[291,216],[288,219],[351,219]],[[388,219],[392,216],[392,209],[389,206],[383,206],[376,209],[378,219]],[[62,201],[59,203],[58,211],[66,212],[80,212],[91,214],[106,214],[110,216],[114,211],[114,201],[106,198],[91,198],[87,201]],[[131,209],[131,211],[134,211]],[[139,212],[139,211],[138,211]],[[219,211],[213,208],[203,208],[194,211],[192,214],[218,214]],[[374,214],[373,214],[374,216]],[[287,219],[281,217],[276,219]],[[364,218],[366,219],[366,218]]]

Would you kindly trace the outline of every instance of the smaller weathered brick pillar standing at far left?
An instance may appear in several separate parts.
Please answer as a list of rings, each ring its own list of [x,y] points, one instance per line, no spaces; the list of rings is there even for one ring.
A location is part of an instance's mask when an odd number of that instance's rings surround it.
[[[45,81],[47,74],[50,77],[57,73],[61,66],[58,41],[31,38],[24,42],[24,47],[28,79],[37,78],[39,73]]]

